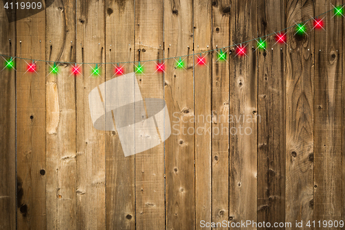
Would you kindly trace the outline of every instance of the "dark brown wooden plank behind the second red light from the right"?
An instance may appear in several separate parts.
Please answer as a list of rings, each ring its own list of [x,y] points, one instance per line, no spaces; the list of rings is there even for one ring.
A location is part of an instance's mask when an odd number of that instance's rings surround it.
[[[277,10],[279,9],[279,10]],[[286,28],[284,1],[259,1],[259,36]],[[267,39],[258,55],[257,222],[285,220],[286,45]]]

